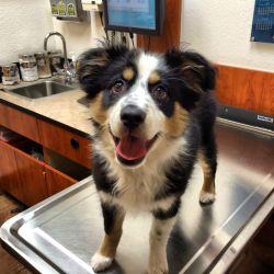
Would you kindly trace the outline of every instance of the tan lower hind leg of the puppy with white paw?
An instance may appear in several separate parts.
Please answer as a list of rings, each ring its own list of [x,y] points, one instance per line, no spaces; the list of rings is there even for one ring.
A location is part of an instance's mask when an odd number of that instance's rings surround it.
[[[204,172],[204,183],[199,193],[199,202],[208,204],[215,201],[215,179],[203,150],[199,151],[198,160]]]

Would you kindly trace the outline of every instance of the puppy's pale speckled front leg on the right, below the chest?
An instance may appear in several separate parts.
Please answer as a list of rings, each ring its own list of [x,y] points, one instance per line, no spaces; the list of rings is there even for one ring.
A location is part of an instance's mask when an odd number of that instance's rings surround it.
[[[160,220],[153,219],[149,235],[148,274],[168,274],[167,244],[175,217]]]

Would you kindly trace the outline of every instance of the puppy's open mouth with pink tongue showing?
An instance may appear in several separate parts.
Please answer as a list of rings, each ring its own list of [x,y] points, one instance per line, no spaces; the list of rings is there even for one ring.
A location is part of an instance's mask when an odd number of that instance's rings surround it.
[[[111,132],[112,134],[112,132]],[[158,134],[149,140],[138,138],[130,133],[122,136],[121,138],[113,136],[117,159],[126,165],[136,165],[140,163],[153,142],[158,138]]]

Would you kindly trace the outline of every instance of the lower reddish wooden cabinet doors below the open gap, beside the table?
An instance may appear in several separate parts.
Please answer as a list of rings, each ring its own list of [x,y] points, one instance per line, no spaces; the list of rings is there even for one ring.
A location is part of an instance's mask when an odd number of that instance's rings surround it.
[[[27,206],[75,184],[77,180],[0,141],[0,187]]]

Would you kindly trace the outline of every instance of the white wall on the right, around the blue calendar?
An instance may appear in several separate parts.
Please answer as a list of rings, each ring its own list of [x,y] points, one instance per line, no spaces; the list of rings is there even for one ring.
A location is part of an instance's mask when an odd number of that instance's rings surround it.
[[[274,44],[251,43],[254,0],[183,0],[181,41],[215,62],[274,71]]]

